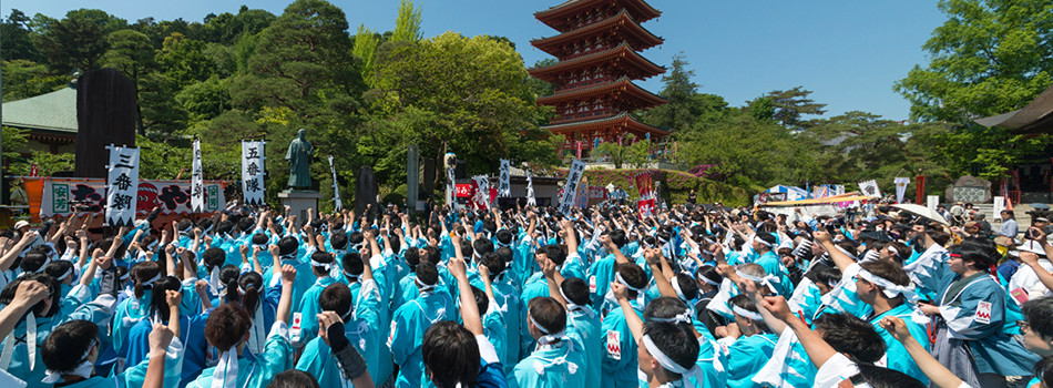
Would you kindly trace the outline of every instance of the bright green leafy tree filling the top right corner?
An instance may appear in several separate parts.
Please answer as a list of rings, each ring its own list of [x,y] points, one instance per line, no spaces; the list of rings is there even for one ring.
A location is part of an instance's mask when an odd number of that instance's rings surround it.
[[[1021,109],[1053,83],[1053,3],[941,0],[948,20],[893,90],[910,100],[911,119],[964,123]]]

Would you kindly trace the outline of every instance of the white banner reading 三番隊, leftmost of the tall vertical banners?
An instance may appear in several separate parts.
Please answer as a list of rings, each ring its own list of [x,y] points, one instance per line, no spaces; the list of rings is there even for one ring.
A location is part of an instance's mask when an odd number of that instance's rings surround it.
[[[139,202],[139,149],[110,144],[106,225],[132,226]]]

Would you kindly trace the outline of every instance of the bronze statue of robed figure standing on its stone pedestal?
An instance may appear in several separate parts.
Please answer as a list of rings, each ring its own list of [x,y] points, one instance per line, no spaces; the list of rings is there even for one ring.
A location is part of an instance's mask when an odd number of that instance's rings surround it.
[[[310,161],[315,157],[315,147],[307,141],[307,130],[300,129],[296,139],[289,142],[285,161],[289,163],[287,190],[278,193],[282,204],[289,207],[289,214],[298,215],[299,221],[307,219],[307,210],[318,210],[321,193],[310,190]]]

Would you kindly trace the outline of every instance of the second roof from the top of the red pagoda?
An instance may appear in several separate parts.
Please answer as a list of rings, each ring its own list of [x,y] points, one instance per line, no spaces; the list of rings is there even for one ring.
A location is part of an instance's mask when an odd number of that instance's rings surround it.
[[[548,52],[553,57],[561,58],[568,55],[565,50],[569,45],[573,45],[575,42],[586,40],[590,37],[607,34],[612,32],[615,34],[615,37],[621,38],[615,41],[628,42],[630,45],[636,50],[647,50],[655,45],[662,44],[664,41],[662,38],[651,33],[651,31],[647,31],[647,29],[640,27],[640,23],[633,20],[627,10],[622,10],[613,17],[576,30],[568,31],[554,37],[531,40],[530,44],[533,44],[535,48]]]

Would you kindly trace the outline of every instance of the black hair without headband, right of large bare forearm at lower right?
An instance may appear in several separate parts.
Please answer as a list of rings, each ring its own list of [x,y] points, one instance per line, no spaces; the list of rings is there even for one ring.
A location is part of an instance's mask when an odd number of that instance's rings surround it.
[[[850,314],[824,314],[812,320],[822,339],[857,363],[873,364],[885,356],[885,340],[873,325]]]

